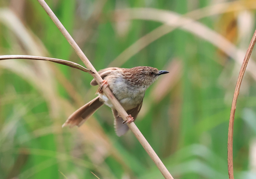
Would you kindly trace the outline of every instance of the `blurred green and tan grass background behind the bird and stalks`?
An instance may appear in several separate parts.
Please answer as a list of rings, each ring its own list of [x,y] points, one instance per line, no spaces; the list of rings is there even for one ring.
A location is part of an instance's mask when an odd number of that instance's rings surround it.
[[[123,68],[170,71],[147,90],[136,125],[175,179],[228,178],[228,121],[241,65],[220,48],[223,42],[214,43],[210,31],[234,44],[235,52],[242,51],[242,60],[255,29],[254,1],[225,1],[219,4],[222,10],[217,1],[206,0],[46,2],[97,70],[116,62]],[[0,6],[1,55],[46,56],[83,65],[38,1],[2,0]],[[150,10],[156,14],[145,15]],[[201,28],[162,12],[195,19]],[[172,20],[169,31],[162,21]],[[147,36],[157,28],[162,35]],[[253,70],[245,74],[236,107],[236,179],[256,178],[255,76]],[[51,62],[0,61],[1,179],[96,178],[91,172],[101,179],[163,178],[130,131],[115,135],[108,107],[80,128],[61,128],[72,112],[95,97],[91,80],[85,72]]]

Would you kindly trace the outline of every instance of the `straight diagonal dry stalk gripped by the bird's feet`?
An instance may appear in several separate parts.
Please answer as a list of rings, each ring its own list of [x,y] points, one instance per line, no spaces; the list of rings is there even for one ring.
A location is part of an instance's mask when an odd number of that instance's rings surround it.
[[[38,0],[38,2],[41,4],[41,6],[44,8],[46,13],[49,15],[49,17],[52,19],[52,21],[55,23],[55,25],[59,28],[60,32],[64,35],[64,37],[67,39],[67,41],[70,43],[70,45],[73,47],[73,49],[76,51],[77,55],[80,57],[80,59],[84,62],[85,66],[91,71],[91,75],[94,77],[98,85],[101,86],[103,79],[101,76],[99,76],[96,69],[93,67],[91,62],[88,60],[88,58],[85,56],[83,51],[79,48],[77,43],[74,41],[74,39],[70,36],[70,34],[67,32],[67,30],[64,28],[62,23],[59,21],[59,19],[56,17],[56,15],[53,13],[53,11],[50,9],[50,7],[46,4],[44,0]],[[102,88],[103,92],[106,94],[108,99],[111,101],[115,109],[118,111],[120,116],[125,119],[127,118],[128,114],[123,109],[123,107],[120,105],[119,101],[115,98],[111,90],[104,84],[104,87]],[[129,120],[129,118],[127,118]],[[147,142],[145,137],[142,135],[140,130],[137,128],[134,122],[131,122],[127,124],[131,131],[134,133],[138,141],[141,143],[145,151],[147,151],[148,155],[150,155],[151,159],[155,162],[157,165],[159,171],[162,173],[162,175],[166,179],[173,179],[172,175],[169,173],[169,171],[166,169],[160,158],[157,156],[153,148],[150,146],[150,144]]]

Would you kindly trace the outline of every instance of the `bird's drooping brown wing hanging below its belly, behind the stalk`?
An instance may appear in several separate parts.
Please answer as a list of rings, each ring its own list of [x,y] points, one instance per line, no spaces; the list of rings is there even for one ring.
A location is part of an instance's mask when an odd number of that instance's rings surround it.
[[[139,105],[137,105],[137,107],[127,110],[126,112],[127,114],[130,114],[135,120],[137,118],[137,115],[138,115],[138,112],[140,111],[141,106],[142,106],[142,101]],[[116,130],[116,135],[120,137],[124,135],[127,132],[127,130],[129,130],[129,127],[126,124],[125,125],[123,124],[124,120],[119,116],[118,111],[116,111],[115,109],[112,109],[112,113],[115,118],[114,126]]]

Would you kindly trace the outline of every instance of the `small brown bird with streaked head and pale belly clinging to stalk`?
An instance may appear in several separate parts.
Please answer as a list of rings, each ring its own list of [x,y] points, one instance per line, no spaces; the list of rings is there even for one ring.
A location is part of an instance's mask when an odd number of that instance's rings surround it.
[[[104,79],[104,83],[108,85],[127,114],[132,116],[133,120],[136,119],[140,111],[146,89],[155,82],[159,75],[166,73],[169,72],[159,71],[153,67],[134,67],[130,69],[112,67],[99,71],[99,75]],[[92,86],[98,85],[95,79],[90,84]],[[129,127],[124,125],[127,122],[119,116],[111,101],[102,92],[102,86],[96,92],[98,96],[71,114],[62,127],[67,125],[70,125],[70,128],[75,125],[81,126],[99,107],[106,104],[112,108],[116,134],[122,136],[127,132]],[[133,120],[128,121],[128,123]]]

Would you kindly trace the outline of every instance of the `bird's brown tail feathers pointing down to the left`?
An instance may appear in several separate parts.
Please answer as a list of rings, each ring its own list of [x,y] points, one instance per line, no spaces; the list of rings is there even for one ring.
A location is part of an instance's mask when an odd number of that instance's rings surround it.
[[[70,128],[73,128],[74,126],[81,126],[102,105],[103,103],[99,100],[99,96],[97,96],[71,114],[62,127],[67,125],[69,125]]]

